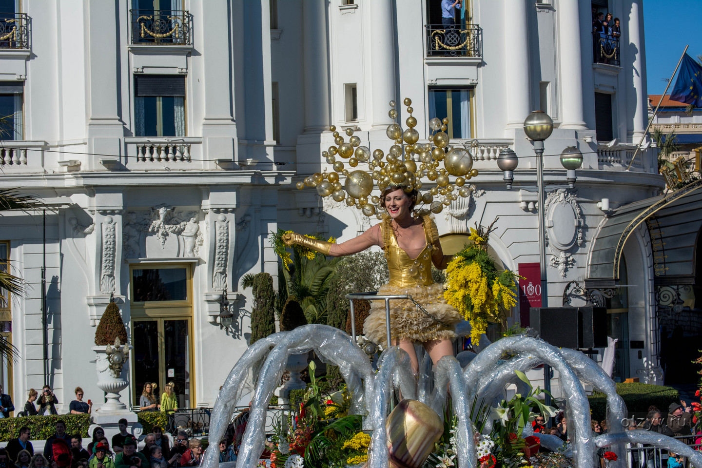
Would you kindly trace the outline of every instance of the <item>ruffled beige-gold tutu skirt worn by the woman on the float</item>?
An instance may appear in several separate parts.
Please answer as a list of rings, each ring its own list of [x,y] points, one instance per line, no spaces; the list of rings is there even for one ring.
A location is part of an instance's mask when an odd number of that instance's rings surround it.
[[[453,340],[456,338],[454,327],[463,321],[463,316],[456,309],[446,304],[444,288],[440,284],[429,286],[380,286],[378,295],[409,294],[427,312],[436,319],[446,323],[444,326],[428,316],[409,300],[390,300],[390,335],[393,340],[412,340],[428,342],[433,340]],[[371,301],[371,313],[364,323],[366,338],[385,345],[387,343],[385,326],[385,301]]]

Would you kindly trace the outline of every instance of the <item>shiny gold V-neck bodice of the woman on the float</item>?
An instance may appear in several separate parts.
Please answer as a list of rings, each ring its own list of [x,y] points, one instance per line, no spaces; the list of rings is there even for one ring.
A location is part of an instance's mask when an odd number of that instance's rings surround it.
[[[417,258],[410,258],[397,243],[395,232],[390,225],[390,217],[386,217],[380,224],[385,243],[385,258],[388,260],[390,270],[390,286],[429,286],[434,284],[432,279],[432,243],[436,226],[429,215],[422,217],[424,237],[426,244]]]

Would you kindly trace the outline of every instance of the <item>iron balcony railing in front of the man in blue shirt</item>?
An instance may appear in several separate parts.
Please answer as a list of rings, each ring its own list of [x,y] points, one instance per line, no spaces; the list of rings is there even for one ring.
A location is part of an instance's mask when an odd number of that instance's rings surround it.
[[[482,57],[479,25],[425,25],[427,57]]]

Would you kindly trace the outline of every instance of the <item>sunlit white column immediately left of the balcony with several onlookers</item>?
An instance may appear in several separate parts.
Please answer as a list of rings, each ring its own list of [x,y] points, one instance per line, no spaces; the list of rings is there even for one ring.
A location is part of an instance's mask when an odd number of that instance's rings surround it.
[[[583,120],[583,64],[580,14],[577,1],[559,1],[559,62],[561,128],[585,128]],[[585,73],[591,73],[585,70]],[[593,98],[594,99],[594,96]]]

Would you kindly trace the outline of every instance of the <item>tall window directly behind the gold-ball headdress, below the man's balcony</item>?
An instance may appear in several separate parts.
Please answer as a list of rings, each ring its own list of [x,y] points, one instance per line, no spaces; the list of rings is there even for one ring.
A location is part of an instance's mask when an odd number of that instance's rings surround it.
[[[473,138],[473,88],[429,88],[429,120],[449,118],[446,133],[452,140]]]

